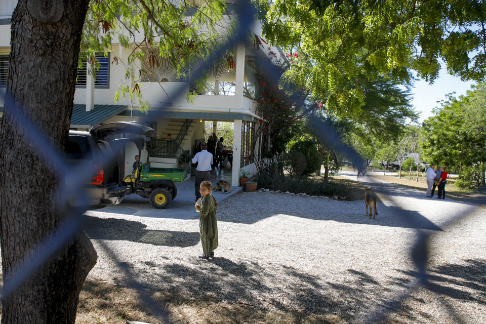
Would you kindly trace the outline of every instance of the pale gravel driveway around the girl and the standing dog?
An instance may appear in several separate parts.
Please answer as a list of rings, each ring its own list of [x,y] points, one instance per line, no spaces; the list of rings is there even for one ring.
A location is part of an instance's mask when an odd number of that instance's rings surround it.
[[[486,210],[426,199],[393,184],[374,186],[381,198],[376,220],[365,216],[363,200],[273,192],[231,196],[219,204],[220,246],[210,262],[197,258],[195,212],[177,220],[90,211],[98,263],[89,279],[119,284],[131,277],[188,301],[362,322],[412,286],[417,269],[410,249],[419,233],[427,233],[435,292],[413,291],[386,322],[485,323]],[[129,274],[105,248],[128,264]]]

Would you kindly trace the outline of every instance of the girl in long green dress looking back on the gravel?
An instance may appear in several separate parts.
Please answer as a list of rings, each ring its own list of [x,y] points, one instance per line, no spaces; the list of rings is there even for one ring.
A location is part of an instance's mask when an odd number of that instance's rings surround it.
[[[216,210],[218,203],[211,194],[213,184],[210,181],[203,181],[199,185],[199,192],[203,200],[198,200],[194,207],[201,213],[199,219],[199,232],[201,234],[201,244],[203,254],[199,258],[208,260],[214,257],[214,250],[218,247],[218,224],[216,222]]]

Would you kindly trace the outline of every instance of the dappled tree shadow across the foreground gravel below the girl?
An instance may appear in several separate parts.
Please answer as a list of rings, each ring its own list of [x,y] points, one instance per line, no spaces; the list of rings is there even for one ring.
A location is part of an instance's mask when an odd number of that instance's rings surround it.
[[[454,318],[457,316],[451,314],[454,312],[465,312],[468,317],[463,306],[470,303],[485,308],[486,260],[465,262],[429,271],[432,284],[442,288],[437,295],[439,299],[450,298],[450,313],[439,313],[443,318]],[[361,322],[367,315],[384,309],[393,297],[409,287],[417,274],[395,270],[394,277],[388,277],[386,282],[381,279],[380,283],[371,273],[348,269],[339,281],[331,281],[326,274],[316,276],[294,267],[264,269],[257,262],[236,263],[226,258],[195,261],[195,267],[152,266],[158,269],[152,276],[144,275],[145,289],[174,316],[177,314],[180,322],[208,323]],[[120,282],[116,286],[124,287],[123,279],[117,280]],[[426,289],[413,292],[399,308],[389,310],[384,322],[430,322],[437,316],[433,313],[437,310],[427,307],[434,294],[437,292]]]

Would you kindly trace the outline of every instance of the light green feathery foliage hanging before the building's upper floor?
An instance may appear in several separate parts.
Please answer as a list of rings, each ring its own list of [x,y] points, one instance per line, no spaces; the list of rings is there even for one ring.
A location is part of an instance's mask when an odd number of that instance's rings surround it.
[[[222,31],[234,28],[232,22],[222,23],[225,10],[221,0],[208,0],[201,6],[186,0],[93,0],[84,24],[79,65],[86,59],[96,68],[96,53],[111,52],[112,63],[126,68],[126,80],[119,86],[115,101],[127,94],[133,99],[135,94],[140,109],[147,111],[150,105],[143,99],[139,84],[143,75],[140,63],[145,60],[155,64],[155,60],[146,53],[170,58],[177,75],[184,76],[188,63],[204,57],[225,34]],[[119,56],[118,49],[112,48],[115,39],[130,50],[128,56]],[[95,74],[96,69],[91,72]]]

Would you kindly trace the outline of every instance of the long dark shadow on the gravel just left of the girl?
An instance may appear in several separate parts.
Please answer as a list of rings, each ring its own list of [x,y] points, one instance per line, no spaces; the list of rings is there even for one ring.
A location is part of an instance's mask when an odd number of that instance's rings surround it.
[[[187,248],[199,242],[199,232],[146,229],[147,225],[119,218],[85,216],[91,239],[127,240],[156,246]]]

